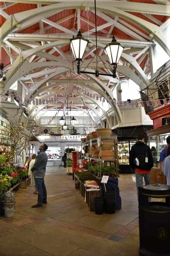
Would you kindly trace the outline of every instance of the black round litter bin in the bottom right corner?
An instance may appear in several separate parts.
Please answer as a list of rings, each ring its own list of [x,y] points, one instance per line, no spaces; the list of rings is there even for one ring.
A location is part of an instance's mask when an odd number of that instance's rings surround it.
[[[139,188],[139,255],[170,256],[170,186]],[[150,202],[149,198],[165,198]]]

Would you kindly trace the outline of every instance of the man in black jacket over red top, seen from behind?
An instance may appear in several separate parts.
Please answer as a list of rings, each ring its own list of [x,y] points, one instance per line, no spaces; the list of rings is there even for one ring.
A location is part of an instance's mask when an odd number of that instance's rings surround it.
[[[143,177],[145,185],[150,184],[150,170],[154,165],[151,149],[145,144],[143,133],[137,135],[137,142],[131,147],[129,165],[135,170],[138,193],[138,187],[143,187]]]

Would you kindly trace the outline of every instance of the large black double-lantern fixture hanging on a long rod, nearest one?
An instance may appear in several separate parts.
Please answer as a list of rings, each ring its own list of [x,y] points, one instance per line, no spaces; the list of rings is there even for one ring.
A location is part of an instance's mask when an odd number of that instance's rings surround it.
[[[124,47],[120,45],[120,43],[116,42],[116,39],[113,36],[112,42],[105,46],[106,53],[109,57],[109,61],[111,63],[112,72],[113,74],[105,74],[105,73],[99,73],[97,70],[97,18],[96,18],[96,0],[94,0],[94,6],[95,6],[95,41],[96,41],[96,70],[95,72],[88,72],[88,71],[81,71],[80,70],[80,61],[82,61],[86,46],[88,45],[89,41],[85,38],[83,38],[81,31],[78,31],[78,34],[76,37],[73,36],[72,39],[70,39],[70,47],[72,49],[73,55],[75,57],[75,60],[77,62],[77,73],[83,73],[83,74],[93,74],[96,77],[99,77],[99,75],[102,76],[112,76],[116,77],[116,67],[119,62],[120,56],[122,54],[122,51]]]

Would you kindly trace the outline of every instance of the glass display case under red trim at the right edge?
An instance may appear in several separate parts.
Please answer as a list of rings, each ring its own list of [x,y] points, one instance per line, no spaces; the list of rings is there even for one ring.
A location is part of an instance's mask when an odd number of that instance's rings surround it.
[[[154,159],[154,167],[160,168],[160,155],[162,150],[167,147],[166,138],[168,136],[170,136],[170,133],[149,136],[149,146]]]

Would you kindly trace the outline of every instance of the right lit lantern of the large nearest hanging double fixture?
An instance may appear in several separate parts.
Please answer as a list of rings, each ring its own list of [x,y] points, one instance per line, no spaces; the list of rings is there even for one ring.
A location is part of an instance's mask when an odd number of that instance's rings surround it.
[[[120,60],[120,56],[122,55],[124,47],[120,45],[113,36],[112,42],[105,46],[105,50],[107,52],[107,56],[109,57],[109,61],[113,66],[113,77],[116,78],[116,67]]]

